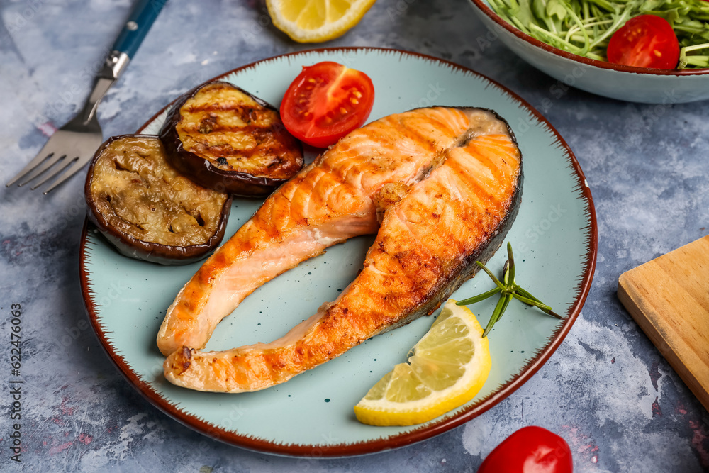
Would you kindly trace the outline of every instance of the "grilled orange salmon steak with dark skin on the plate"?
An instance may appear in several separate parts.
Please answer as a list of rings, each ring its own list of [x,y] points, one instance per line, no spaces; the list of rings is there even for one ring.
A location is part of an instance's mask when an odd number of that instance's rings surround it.
[[[522,157],[493,111],[417,108],[354,130],[272,194],[179,292],[157,343],[164,375],[199,391],[258,391],[433,313],[503,243]],[[202,351],[218,322],[281,272],[376,233],[338,298],[271,343]]]

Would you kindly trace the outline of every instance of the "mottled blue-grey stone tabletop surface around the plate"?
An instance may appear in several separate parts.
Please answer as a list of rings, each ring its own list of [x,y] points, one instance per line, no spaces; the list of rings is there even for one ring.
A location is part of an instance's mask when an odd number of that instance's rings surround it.
[[[130,2],[0,4],[3,182],[77,111]],[[523,425],[564,436],[576,472],[709,469],[709,416],[615,296],[620,273],[709,233],[706,102],[630,104],[559,87],[485,38],[466,0],[380,0],[328,46],[442,57],[513,89],[574,150],[596,203],[598,267],[584,311],[547,364],[483,416],[367,457],[274,457],[223,445],[150,406],[118,374],[79,291],[83,175],[50,196],[0,188],[0,470],[474,472]],[[259,1],[172,1],[99,108],[104,136],[130,133],[177,94],[229,69],[304,50]],[[10,460],[11,304],[21,304],[21,464]]]

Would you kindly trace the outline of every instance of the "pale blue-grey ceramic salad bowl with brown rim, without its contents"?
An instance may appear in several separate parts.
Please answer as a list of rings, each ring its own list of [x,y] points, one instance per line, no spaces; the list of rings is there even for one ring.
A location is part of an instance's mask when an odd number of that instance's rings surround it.
[[[709,99],[709,69],[648,69],[588,59],[523,33],[500,18],[484,0],[471,3],[489,29],[479,44],[499,39],[530,65],[566,85],[611,99],[647,104]]]

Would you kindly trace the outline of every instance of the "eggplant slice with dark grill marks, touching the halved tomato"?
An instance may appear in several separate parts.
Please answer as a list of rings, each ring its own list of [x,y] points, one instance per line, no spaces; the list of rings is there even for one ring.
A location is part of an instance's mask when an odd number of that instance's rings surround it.
[[[169,162],[195,182],[267,196],[303,167],[303,145],[279,111],[233,84],[206,82],[177,99],[160,139]]]

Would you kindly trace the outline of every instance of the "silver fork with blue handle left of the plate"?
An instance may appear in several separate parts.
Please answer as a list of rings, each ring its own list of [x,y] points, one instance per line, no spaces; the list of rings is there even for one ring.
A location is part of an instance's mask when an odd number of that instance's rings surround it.
[[[28,184],[33,179],[41,179],[31,189],[37,189],[52,177],[57,177],[44,194],[65,182],[75,172],[84,167],[94,157],[96,148],[104,140],[99,120],[96,118],[96,108],[106,91],[113,85],[130,57],[133,57],[138,46],[145,38],[150,26],[167,0],[138,0],[135,9],[130,13],[121,34],[113,43],[113,51],[106,58],[104,66],[96,75],[94,89],[82,111],[71,121],[62,126],[51,136],[32,161],[8,182],[10,187],[18,181],[18,186]],[[60,174],[61,173],[61,174]]]

